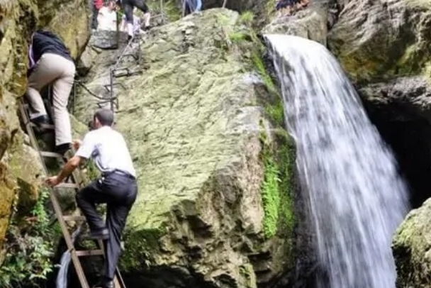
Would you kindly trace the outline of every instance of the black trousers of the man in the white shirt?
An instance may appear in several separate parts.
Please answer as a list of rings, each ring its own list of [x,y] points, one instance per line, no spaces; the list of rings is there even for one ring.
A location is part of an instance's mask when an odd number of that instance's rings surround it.
[[[91,231],[108,228],[105,243],[105,277],[113,279],[121,253],[121,235],[130,208],[135,203],[138,186],[132,176],[111,173],[96,179],[77,194],[77,204],[85,215]],[[106,226],[96,211],[96,204],[106,203]]]

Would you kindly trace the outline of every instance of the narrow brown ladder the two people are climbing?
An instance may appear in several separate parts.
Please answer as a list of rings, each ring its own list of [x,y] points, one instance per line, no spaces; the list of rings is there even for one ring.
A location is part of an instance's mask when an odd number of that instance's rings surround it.
[[[57,158],[57,160],[62,162],[62,164],[64,165],[65,160],[67,160],[70,155],[67,155],[65,157],[65,156],[60,155],[58,153],[53,153],[50,151],[41,151],[39,149],[38,141],[35,138],[35,132],[33,130],[36,126],[34,123],[30,122],[30,117],[28,116],[29,106],[27,103],[24,102],[23,98],[24,97],[21,97],[21,99],[19,100],[19,103],[18,103],[21,120],[24,123],[24,125],[26,126],[26,132],[28,134],[28,137],[30,138],[30,145],[33,147],[33,149],[38,151],[40,162],[42,163],[43,169],[45,170],[45,175],[48,175],[47,165],[45,163],[46,157]],[[48,108],[47,113],[49,114],[50,118],[52,118],[51,117],[52,113],[51,113],[49,101],[45,102],[45,104]],[[52,132],[54,132],[54,126],[53,125],[45,124],[45,125],[41,125],[40,128],[43,128],[44,130],[52,130]],[[68,154],[68,153],[66,153],[66,154]],[[81,265],[81,262],[79,260],[79,257],[95,256],[95,255],[104,257],[105,253],[104,253],[104,248],[103,248],[103,241],[102,240],[95,240],[96,246],[98,247],[95,250],[76,250],[74,247],[74,243],[72,242],[72,237],[71,237],[71,234],[69,232],[69,229],[67,228],[66,223],[69,221],[84,222],[84,221],[86,221],[86,218],[84,216],[63,215],[60,203],[59,203],[59,201],[57,199],[57,195],[55,193],[56,191],[58,191],[60,189],[74,189],[75,192],[78,192],[79,188],[82,187],[82,184],[83,184],[82,181],[79,181],[80,177],[79,177],[78,173],[79,173],[78,170],[74,170],[72,175],[70,175],[66,179],[66,182],[58,184],[56,187],[49,188],[50,189],[49,192],[50,192],[50,200],[52,203],[52,207],[55,211],[55,216],[57,218],[57,221],[60,223],[60,228],[62,230],[63,237],[65,238],[65,243],[67,245],[67,249],[70,252],[71,259],[72,259],[74,268],[77,272],[77,276],[78,276],[79,282],[81,284],[81,287],[82,288],[91,288],[89,286],[89,283],[87,282],[87,279],[86,279],[86,276],[84,274],[84,270],[82,269],[82,265]],[[125,284],[123,282],[123,278],[121,277],[121,273],[118,270],[118,267],[116,268],[114,287],[115,288],[125,288]]]

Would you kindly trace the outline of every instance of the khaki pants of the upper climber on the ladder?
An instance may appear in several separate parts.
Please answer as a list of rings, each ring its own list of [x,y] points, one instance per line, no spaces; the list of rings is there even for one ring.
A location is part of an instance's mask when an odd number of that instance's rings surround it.
[[[74,62],[60,55],[45,53],[28,77],[27,98],[31,107],[31,119],[47,115],[39,92],[47,84],[52,85],[55,145],[72,143],[67,101],[72,90],[74,75]]]

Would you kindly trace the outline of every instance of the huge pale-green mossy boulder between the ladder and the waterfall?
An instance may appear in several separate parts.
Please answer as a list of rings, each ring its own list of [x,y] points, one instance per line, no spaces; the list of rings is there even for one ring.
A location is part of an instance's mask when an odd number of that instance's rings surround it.
[[[256,287],[293,268],[293,161],[266,116],[283,121],[261,47],[237,12],[211,9],[154,28],[142,65],[122,64],[142,70],[115,88],[139,184],[121,257],[128,287]],[[117,55],[97,56],[85,84],[94,94],[109,96]],[[80,120],[94,102],[79,92]]]

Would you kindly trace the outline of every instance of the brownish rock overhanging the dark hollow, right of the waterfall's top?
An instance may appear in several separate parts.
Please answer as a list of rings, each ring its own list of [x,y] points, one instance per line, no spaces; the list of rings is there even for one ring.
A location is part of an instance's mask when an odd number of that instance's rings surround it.
[[[349,1],[328,45],[356,82],[427,72],[430,1]]]

